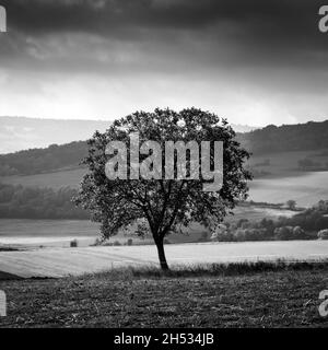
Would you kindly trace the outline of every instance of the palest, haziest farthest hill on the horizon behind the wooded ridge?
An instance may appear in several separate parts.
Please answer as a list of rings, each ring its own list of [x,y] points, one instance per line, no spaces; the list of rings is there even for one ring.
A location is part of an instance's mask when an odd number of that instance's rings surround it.
[[[86,140],[95,130],[103,132],[109,125],[109,120],[0,117],[0,154]],[[256,129],[244,125],[233,125],[233,128],[237,132]]]

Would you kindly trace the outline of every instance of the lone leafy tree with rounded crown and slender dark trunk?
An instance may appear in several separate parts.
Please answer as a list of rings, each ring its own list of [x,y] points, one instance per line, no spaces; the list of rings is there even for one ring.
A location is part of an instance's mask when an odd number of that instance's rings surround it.
[[[130,179],[133,170],[130,164],[130,137],[139,133],[139,142],[153,140],[165,149],[165,141],[222,141],[223,142],[223,185],[219,191],[204,191],[209,180],[201,175],[198,179],[161,178]],[[176,113],[171,109],[155,109],[153,113],[137,112],[115,120],[106,132],[96,131],[89,144],[89,156],[83,161],[89,173],[83,177],[75,203],[92,212],[92,220],[101,222],[103,238],[108,238],[119,230],[139,223],[147,224],[157,247],[161,268],[168,266],[164,252],[164,237],[181,231],[191,222],[202,223],[210,230],[222,222],[238,200],[247,197],[247,180],[251,175],[244,163],[249,158],[246,150],[234,139],[235,132],[225,119],[196,108]],[[108,162],[106,147],[110,141],[122,141],[127,145],[128,179],[108,179],[105,166]],[[176,144],[176,143],[175,143]],[[200,151],[199,151],[200,152]],[[186,168],[190,176],[191,151],[185,149]],[[211,148],[211,166],[214,151]],[[143,160],[150,156],[143,155]],[[201,154],[199,154],[201,156]],[[175,160],[176,160],[175,154]],[[200,159],[200,158],[199,158]],[[142,156],[140,156],[140,161]],[[165,156],[163,155],[163,164]],[[200,166],[198,161],[198,166]],[[151,164],[150,167],[154,167]],[[211,167],[211,168],[212,168]],[[175,167],[175,175],[177,174]],[[138,229],[139,234],[145,230]]]

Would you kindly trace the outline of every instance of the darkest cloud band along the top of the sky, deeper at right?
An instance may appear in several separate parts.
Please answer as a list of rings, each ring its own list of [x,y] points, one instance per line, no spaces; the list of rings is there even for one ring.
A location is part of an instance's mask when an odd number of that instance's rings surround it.
[[[256,65],[326,65],[327,35],[318,31],[320,0],[2,0],[12,33],[34,37],[83,33],[110,40],[154,43],[179,56],[194,43],[201,60]],[[12,37],[14,42],[19,35]],[[22,42],[22,39],[21,39]],[[26,44],[28,46],[28,43]],[[23,48],[24,46],[23,45]],[[208,45],[208,46],[206,46]],[[222,55],[222,47],[238,55]],[[2,45],[14,55],[15,43]],[[24,54],[25,51],[23,51]],[[1,52],[0,52],[1,54]],[[197,54],[199,55],[199,54]],[[196,55],[196,56],[197,56]],[[201,55],[200,55],[201,56]]]

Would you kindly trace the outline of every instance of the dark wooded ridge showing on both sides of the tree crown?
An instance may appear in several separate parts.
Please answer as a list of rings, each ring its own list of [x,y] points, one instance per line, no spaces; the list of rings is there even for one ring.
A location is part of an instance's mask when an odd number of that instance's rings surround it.
[[[237,133],[236,139],[244,148],[257,155],[328,149],[328,120],[281,127],[271,125],[263,129]],[[86,154],[85,141],[3,154],[0,155],[0,176],[33,175],[75,167]]]

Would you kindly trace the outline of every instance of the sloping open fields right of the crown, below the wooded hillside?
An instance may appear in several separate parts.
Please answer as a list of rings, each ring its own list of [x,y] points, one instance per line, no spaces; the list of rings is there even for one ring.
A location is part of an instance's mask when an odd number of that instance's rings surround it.
[[[328,172],[302,172],[298,161],[311,159],[320,164],[328,163],[328,151],[283,152],[255,155],[249,165],[268,173],[249,184],[249,199],[258,202],[284,203],[296,200],[301,207],[311,207],[320,199],[328,198]],[[269,161],[268,165],[265,164]]]

